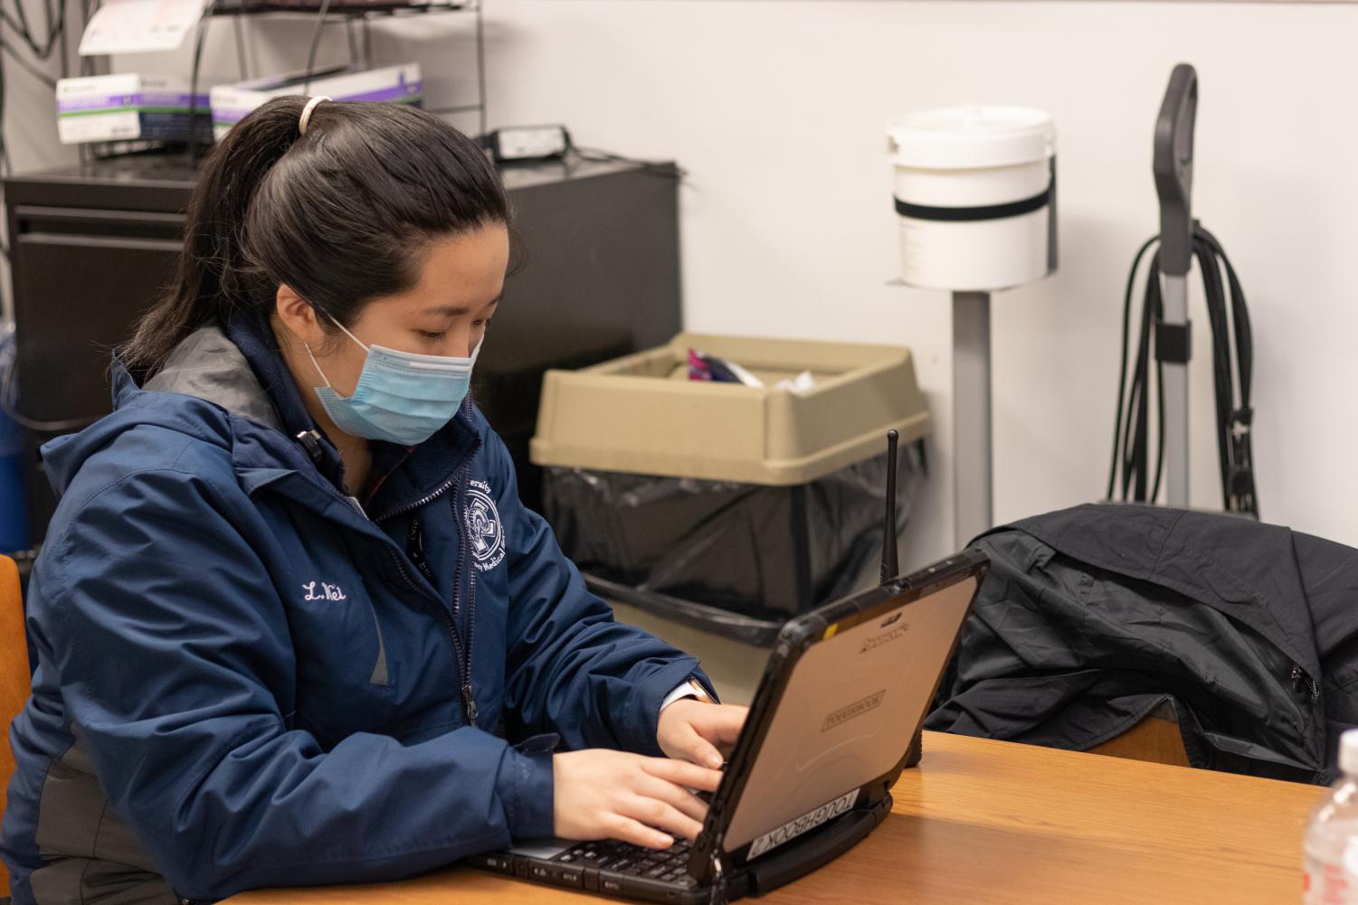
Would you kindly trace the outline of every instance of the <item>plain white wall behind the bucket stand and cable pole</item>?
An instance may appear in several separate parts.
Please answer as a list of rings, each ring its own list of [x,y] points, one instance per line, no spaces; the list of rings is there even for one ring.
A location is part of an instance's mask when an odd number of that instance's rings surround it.
[[[1023,103],[1061,132],[1061,273],[995,297],[995,516],[1013,520],[1103,494],[1123,282],[1157,229],[1152,125],[1171,68],[1192,62],[1195,212],[1253,315],[1263,514],[1358,545],[1358,7],[486,1],[493,126],[565,122],[581,144],[690,171],[691,328],[915,350],[936,436],[910,562],[952,548],[949,301],[887,285],[898,261],[884,123],[937,104]],[[232,73],[230,26],[213,27],[208,66]],[[414,54],[430,103],[460,103],[469,27],[379,26],[391,35],[379,56]],[[251,22],[255,65],[303,65],[308,30]],[[335,30],[322,60],[342,57]],[[1194,503],[1214,507],[1200,305],[1191,300]]]

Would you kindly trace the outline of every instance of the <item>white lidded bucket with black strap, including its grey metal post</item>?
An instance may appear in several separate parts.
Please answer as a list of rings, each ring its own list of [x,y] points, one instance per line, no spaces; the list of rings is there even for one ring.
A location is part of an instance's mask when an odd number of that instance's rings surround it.
[[[994,525],[990,293],[1057,270],[1057,129],[1028,107],[947,107],[888,128],[900,277],[953,301],[957,547]]]

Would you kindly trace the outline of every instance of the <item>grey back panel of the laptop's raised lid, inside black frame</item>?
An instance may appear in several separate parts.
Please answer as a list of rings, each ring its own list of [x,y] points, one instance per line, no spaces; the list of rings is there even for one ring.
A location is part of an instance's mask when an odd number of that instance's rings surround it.
[[[854,805],[900,763],[976,590],[974,575],[826,630],[792,668],[722,848],[752,860]]]

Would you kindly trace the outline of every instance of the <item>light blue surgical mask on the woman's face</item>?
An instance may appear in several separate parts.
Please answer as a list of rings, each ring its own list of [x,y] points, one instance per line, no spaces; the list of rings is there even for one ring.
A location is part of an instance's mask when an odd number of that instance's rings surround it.
[[[326,381],[325,387],[315,388],[316,398],[340,430],[354,437],[416,446],[458,414],[471,388],[471,368],[481,354],[481,343],[470,358],[418,355],[365,346],[338,320],[330,320],[368,351],[353,395],[341,396],[316,364],[311,346],[307,346],[311,364]]]

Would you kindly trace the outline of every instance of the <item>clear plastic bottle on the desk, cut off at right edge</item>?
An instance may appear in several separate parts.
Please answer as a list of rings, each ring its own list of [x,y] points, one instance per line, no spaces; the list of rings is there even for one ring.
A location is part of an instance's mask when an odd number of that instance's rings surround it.
[[[1339,737],[1339,769],[1306,826],[1305,905],[1358,905],[1358,729]]]

